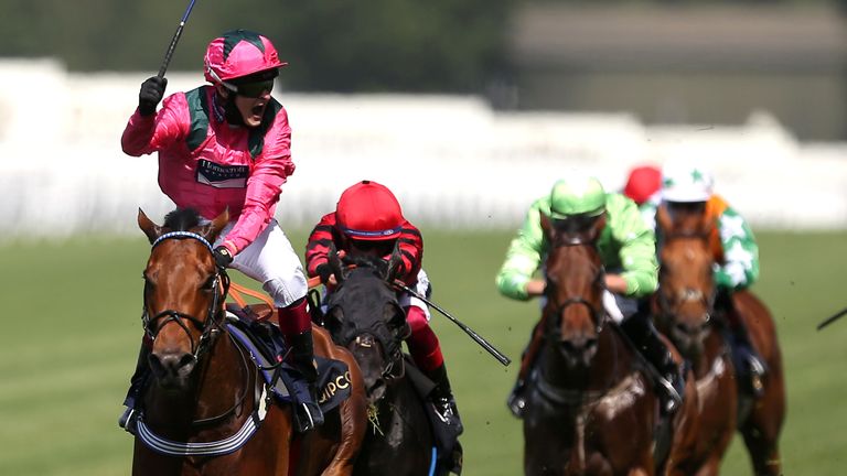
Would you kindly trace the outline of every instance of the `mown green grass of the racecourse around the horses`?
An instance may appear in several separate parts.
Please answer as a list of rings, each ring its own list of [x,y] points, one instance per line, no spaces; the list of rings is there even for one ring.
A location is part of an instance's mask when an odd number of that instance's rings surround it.
[[[517,360],[538,310],[494,288],[511,234],[422,231],[433,300]],[[0,246],[0,474],[129,473],[132,439],[116,421],[141,338],[149,245],[138,235]],[[847,304],[837,278],[847,268],[847,232],[758,237],[754,291],[774,314],[787,377],[784,473],[841,474],[847,322],[823,332],[815,325]],[[303,249],[304,232],[290,238]],[[517,366],[502,367],[441,316],[433,327],[465,422],[464,474],[521,474],[522,428],[504,404]],[[725,474],[750,474],[741,446],[736,436]]]

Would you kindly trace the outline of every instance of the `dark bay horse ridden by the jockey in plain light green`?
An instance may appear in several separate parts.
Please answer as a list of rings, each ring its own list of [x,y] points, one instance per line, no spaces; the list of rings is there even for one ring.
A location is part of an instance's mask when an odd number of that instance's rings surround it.
[[[542,215],[545,261],[544,342],[524,414],[526,475],[684,475],[696,437],[689,381],[673,416],[664,464],[654,455],[658,397],[648,365],[607,316],[597,239],[604,218],[560,230]]]

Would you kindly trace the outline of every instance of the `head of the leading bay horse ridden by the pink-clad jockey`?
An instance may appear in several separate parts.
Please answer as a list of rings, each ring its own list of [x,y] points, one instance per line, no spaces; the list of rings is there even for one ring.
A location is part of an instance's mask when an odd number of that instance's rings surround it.
[[[162,388],[186,388],[221,328],[228,280],[215,266],[211,244],[228,216],[225,210],[201,225],[196,212],[178,209],[159,226],[138,212],[138,226],[152,245],[143,273],[143,325],[153,342],[150,367]]]

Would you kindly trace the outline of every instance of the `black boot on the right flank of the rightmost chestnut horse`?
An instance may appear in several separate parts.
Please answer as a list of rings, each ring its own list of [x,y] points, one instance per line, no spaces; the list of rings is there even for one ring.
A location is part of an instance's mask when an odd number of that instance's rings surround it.
[[[732,303],[729,290],[720,288],[715,299],[715,307],[721,315],[723,323],[729,327],[730,348],[732,349],[732,364],[736,366],[739,377],[739,387],[754,398],[764,393],[763,379],[768,374],[764,360],[750,342],[750,333],[744,321],[738,315]]]

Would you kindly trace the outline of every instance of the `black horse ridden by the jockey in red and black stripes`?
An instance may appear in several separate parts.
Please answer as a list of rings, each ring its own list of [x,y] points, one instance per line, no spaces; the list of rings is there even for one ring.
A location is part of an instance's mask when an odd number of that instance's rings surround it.
[[[367,257],[345,261],[353,267],[342,264],[334,250],[330,253],[339,285],[326,299],[323,325],[333,340],[353,353],[367,391],[369,431],[354,474],[447,474],[421,392],[412,381],[419,370],[404,358],[403,340],[411,331],[392,285],[399,253],[395,250],[387,266]]]

